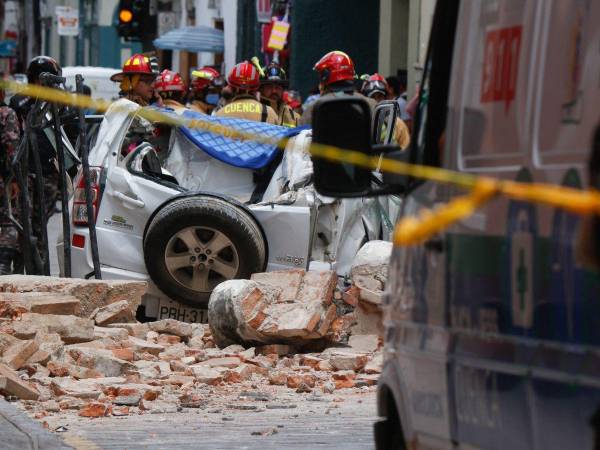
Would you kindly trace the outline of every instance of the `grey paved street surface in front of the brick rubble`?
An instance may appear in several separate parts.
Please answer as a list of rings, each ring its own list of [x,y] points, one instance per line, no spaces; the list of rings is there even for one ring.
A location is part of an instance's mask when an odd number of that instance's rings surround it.
[[[244,403],[245,407],[225,403],[222,407],[97,419],[63,414],[42,420],[50,430],[65,427],[67,431],[56,435],[74,448],[85,449],[374,448],[375,388],[364,393],[342,390],[322,397],[293,396],[290,403],[253,402]]]

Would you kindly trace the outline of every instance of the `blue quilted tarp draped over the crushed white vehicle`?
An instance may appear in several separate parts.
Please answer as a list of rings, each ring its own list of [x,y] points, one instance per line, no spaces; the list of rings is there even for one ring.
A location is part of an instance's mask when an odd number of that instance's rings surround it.
[[[163,109],[165,113],[171,110]],[[283,139],[295,136],[307,127],[286,128],[251,120],[232,119],[226,117],[207,116],[195,111],[185,111],[183,117],[189,120],[206,121],[212,124],[230,127],[244,133]],[[235,167],[246,169],[261,169],[273,161],[277,152],[275,145],[262,144],[253,141],[241,141],[227,138],[197,128],[180,128],[181,132],[196,144],[201,150],[213,158]]]

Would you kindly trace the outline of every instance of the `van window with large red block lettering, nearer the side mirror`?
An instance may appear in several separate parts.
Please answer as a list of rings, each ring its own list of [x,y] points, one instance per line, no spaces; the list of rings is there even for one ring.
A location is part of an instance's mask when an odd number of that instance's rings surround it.
[[[528,148],[533,42],[540,2],[470,0],[460,121],[463,170],[520,166]]]

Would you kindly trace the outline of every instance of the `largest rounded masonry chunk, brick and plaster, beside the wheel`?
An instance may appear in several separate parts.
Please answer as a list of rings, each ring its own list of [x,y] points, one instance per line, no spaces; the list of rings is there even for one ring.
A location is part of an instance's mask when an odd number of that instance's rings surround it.
[[[288,282],[293,286],[285,290]],[[336,283],[335,272],[303,270],[254,274],[253,280],[221,283],[208,306],[213,339],[225,347],[234,343],[297,345],[323,338],[337,316],[332,304]],[[291,292],[296,298],[291,299]]]

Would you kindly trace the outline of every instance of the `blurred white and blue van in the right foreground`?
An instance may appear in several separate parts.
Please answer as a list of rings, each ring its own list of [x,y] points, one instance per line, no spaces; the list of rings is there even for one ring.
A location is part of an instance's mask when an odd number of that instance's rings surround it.
[[[388,156],[599,188],[599,23],[592,0],[437,2],[412,146]],[[343,125],[356,134],[356,123]],[[401,193],[403,216],[464,195],[401,177],[375,189],[364,170],[314,163],[321,194]],[[583,241],[600,259],[598,236],[596,216],[499,196],[395,247],[377,448],[599,448],[600,276],[577,258]]]

